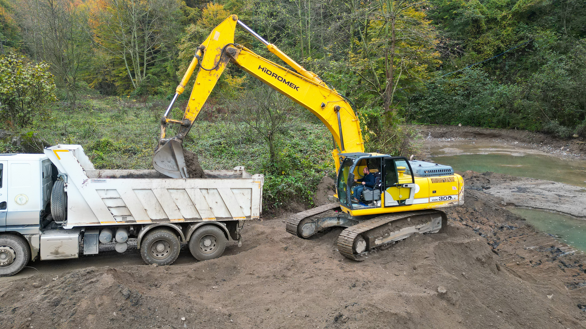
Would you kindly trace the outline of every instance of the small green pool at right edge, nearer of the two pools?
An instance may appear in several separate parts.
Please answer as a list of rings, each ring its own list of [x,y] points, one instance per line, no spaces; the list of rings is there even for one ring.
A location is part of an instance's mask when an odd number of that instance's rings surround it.
[[[586,251],[586,220],[545,210],[507,207],[540,231],[556,235],[560,242]]]

